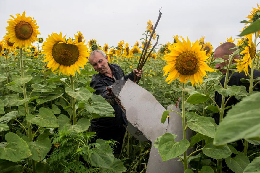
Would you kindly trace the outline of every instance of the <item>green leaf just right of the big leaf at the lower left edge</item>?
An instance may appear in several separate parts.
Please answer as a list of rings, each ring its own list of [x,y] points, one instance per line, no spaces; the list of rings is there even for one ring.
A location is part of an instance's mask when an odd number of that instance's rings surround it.
[[[48,135],[41,134],[36,141],[29,142],[28,146],[32,153],[31,159],[39,162],[48,154],[52,147],[52,143]]]

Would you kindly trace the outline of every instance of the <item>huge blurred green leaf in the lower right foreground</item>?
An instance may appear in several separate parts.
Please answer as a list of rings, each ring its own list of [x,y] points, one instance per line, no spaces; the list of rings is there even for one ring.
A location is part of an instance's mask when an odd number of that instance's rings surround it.
[[[214,145],[223,145],[239,139],[260,138],[260,92],[243,98],[227,112],[216,130]]]

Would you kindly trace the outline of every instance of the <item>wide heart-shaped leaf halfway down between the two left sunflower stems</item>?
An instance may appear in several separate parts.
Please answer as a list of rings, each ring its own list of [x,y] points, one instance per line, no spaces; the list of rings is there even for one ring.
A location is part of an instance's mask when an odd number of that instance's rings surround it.
[[[28,115],[26,120],[41,127],[58,127],[58,120],[55,115],[47,108],[40,108],[39,115]]]

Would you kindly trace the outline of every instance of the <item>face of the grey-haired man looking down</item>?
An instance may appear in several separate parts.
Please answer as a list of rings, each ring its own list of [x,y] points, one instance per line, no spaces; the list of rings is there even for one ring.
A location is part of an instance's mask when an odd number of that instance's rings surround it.
[[[109,72],[108,58],[107,56],[104,58],[104,56],[102,56],[99,52],[96,52],[95,56],[89,59],[89,63],[97,72],[101,74],[106,74]]]

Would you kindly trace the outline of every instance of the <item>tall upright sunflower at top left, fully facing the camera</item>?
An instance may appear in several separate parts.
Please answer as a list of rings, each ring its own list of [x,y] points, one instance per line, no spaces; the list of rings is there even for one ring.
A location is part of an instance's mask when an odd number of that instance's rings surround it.
[[[6,27],[8,33],[7,36],[10,37],[9,41],[14,43],[14,47],[28,47],[32,45],[35,41],[38,41],[37,35],[40,34],[38,31],[38,26],[36,20],[31,17],[25,17],[25,11],[22,15],[16,14],[16,18],[11,16],[13,19],[9,19]]]

